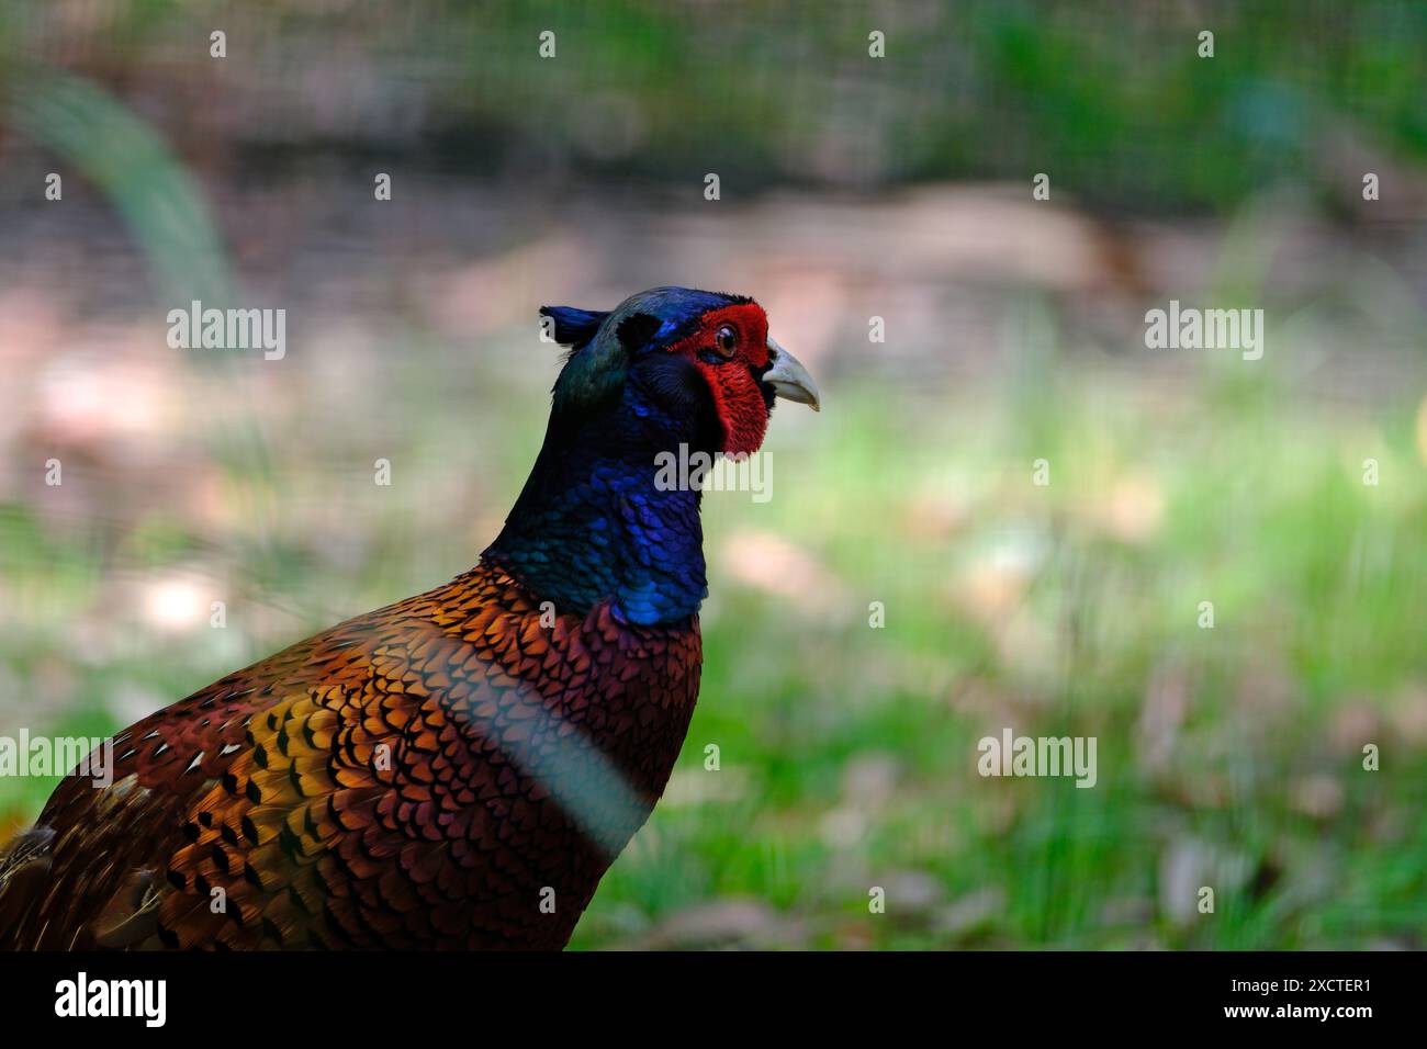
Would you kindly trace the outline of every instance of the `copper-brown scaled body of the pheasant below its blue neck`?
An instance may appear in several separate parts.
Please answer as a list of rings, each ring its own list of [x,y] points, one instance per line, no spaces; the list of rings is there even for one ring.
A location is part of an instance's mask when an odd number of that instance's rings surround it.
[[[562,946],[669,776],[699,634],[539,618],[482,565],[138,722],[40,816],[67,829],[14,945]],[[634,794],[567,809],[594,749]]]

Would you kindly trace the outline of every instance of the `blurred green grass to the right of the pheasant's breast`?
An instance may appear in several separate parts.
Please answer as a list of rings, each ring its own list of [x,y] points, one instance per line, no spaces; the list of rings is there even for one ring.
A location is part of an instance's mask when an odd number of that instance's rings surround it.
[[[1220,400],[1186,432],[1103,388],[1079,390],[1043,434],[1056,472],[1037,491],[1030,457],[1007,458],[989,435],[992,411],[909,434],[905,404],[893,414],[890,401],[828,401],[856,424],[816,458],[782,467],[772,505],[855,604],[886,602],[888,627],[869,629],[853,612],[829,632],[791,605],[746,595],[722,605],[706,628],[704,698],[679,775],[736,775],[738,798],[661,808],[652,843],[611,872],[578,945],[719,896],[773,901],[806,919],[799,942],[815,946],[1420,942],[1421,739],[1410,745],[1387,725],[1333,738],[1343,705],[1390,718],[1394,691],[1424,671],[1424,507],[1410,431],[1374,450],[1393,480],[1373,488],[1353,461],[1357,438],[1320,420],[1266,407],[1246,421]],[[775,454],[781,465],[796,457]],[[1126,542],[1080,520],[1114,498],[1113,478],[1136,472],[1162,488],[1162,528]],[[916,512],[909,494],[956,475],[999,497],[973,501],[942,541],[915,544],[902,532]],[[1045,545],[1016,615],[1045,631],[1050,658],[1036,659],[1033,645],[997,651],[985,624],[938,607],[958,562],[1010,528]],[[1364,548],[1377,555],[1360,561]],[[889,565],[889,551],[902,564]],[[1212,631],[1196,624],[1200,599],[1216,602]],[[1143,708],[1164,664],[1186,678],[1186,709],[1164,766],[1150,772]],[[997,709],[1013,715],[962,702],[962,678],[1002,692]],[[1283,691],[1277,706],[1266,688]],[[976,739],[999,724],[1097,736],[1099,785],[979,779]],[[705,742],[719,744],[722,771],[704,771]],[[1361,769],[1360,742],[1383,749],[1381,772]],[[869,754],[889,762],[896,786],[839,848],[819,824],[833,806],[858,809],[843,774]],[[1306,814],[1294,796],[1306,778],[1336,784],[1341,798]],[[1217,781],[1217,796],[1196,798],[1194,781]],[[1209,878],[1217,912],[1176,922],[1164,866],[1186,842],[1190,856],[1233,856],[1241,883]],[[910,893],[910,908],[889,889],[888,915],[869,915],[866,888],[905,872],[935,888]],[[1002,902],[983,921],[939,935],[958,899],[987,891]]]

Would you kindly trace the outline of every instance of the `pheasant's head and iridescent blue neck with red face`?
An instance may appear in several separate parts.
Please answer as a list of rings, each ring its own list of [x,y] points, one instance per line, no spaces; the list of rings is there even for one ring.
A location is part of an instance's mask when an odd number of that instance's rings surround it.
[[[658,487],[659,457],[752,454],[775,401],[818,410],[818,388],[743,295],[664,287],[609,311],[541,313],[569,354],[535,468],[485,555],[557,607],[612,598],[629,622],[686,618],[708,594],[699,492]]]

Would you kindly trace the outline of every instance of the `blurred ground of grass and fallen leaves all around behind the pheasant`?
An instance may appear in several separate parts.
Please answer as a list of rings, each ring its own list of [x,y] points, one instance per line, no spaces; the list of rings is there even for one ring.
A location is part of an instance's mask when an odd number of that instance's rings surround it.
[[[776,412],[769,502],[706,500],[699,711],[577,945],[1421,946],[1427,385],[1391,238],[1293,197],[1222,227],[1006,186],[397,190],[218,197],[247,301],[288,310],[281,363],[167,350],[101,203],[66,208],[73,235],[6,224],[7,731],[110,732],[461,571],[544,428],[535,308],[726,287],[826,410]],[[1264,360],[1144,348],[1170,295],[1264,303]],[[1099,786],[980,779],[1003,725],[1099,736]],[[0,781],[11,825],[49,786]]]

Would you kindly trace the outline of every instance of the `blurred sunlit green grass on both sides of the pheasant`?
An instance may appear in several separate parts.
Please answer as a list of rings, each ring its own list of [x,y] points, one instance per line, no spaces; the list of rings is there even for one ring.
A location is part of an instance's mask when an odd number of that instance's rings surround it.
[[[1153,411],[1132,387],[1049,367],[1047,402],[1013,382],[990,398],[833,388],[821,417],[775,418],[772,501],[706,497],[699,708],[671,796],[575,946],[659,943],[661,922],[741,899],[755,909],[668,935],[1420,946],[1427,729],[1396,728],[1420,714],[1427,681],[1411,420],[1374,431],[1299,415],[1271,382],[1246,405],[1207,368],[1193,411]],[[457,425],[457,400],[430,404],[412,447],[427,427]],[[492,491],[512,497],[538,420],[492,411],[485,427],[508,427],[489,445]],[[1367,455],[1380,487],[1361,484]],[[1032,484],[1035,458],[1050,462],[1047,487]],[[305,470],[277,472],[303,490],[320,481]],[[46,728],[101,735],[120,726],[108,709],[124,689],[178,698],[327,625],[332,605],[372,607],[459,565],[465,537],[452,535],[424,564],[402,500],[368,512],[354,575],[310,537],[280,547],[248,588],[258,605],[291,601],[305,627],[283,619],[244,635],[241,652],[214,648],[224,631],[205,622],[167,639],[136,628],[96,658],[74,624],[103,614],[106,562],[161,568],[191,558],[198,537],[158,515],[106,551],[94,528],[47,528],[7,505],[0,585],[27,618],[7,622],[4,665],[20,681],[70,668],[84,702]],[[808,599],[749,569],[761,564]],[[1214,629],[1197,627],[1204,599]],[[872,601],[882,629],[868,625]],[[231,615],[245,618],[243,601]],[[1179,691],[1177,715],[1153,714],[1164,689]],[[979,778],[976,741],[1003,725],[1096,736],[1099,784]],[[1380,772],[1361,769],[1364,742],[1381,748]],[[704,765],[709,744],[718,771]],[[0,811],[33,815],[51,782],[0,779]],[[1216,913],[1184,916],[1192,902],[1169,893],[1200,883],[1217,886]],[[868,911],[872,886],[888,891],[885,915]]]

